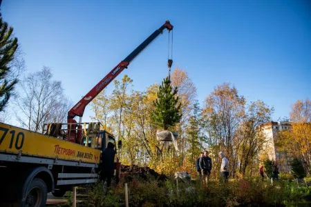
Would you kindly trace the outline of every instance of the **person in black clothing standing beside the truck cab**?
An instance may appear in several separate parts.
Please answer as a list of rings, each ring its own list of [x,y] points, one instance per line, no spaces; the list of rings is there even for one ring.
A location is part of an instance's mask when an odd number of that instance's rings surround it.
[[[115,145],[111,142],[108,143],[107,148],[102,153],[102,181],[107,179],[107,187],[111,186],[111,178],[115,170]]]

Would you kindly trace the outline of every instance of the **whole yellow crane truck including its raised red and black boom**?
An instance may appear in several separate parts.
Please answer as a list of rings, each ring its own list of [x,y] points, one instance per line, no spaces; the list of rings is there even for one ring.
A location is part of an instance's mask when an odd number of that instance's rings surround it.
[[[48,193],[62,197],[73,186],[94,184],[102,167],[102,152],[109,141],[120,149],[100,123],[82,123],[90,103],[127,68],[142,50],[167,29],[169,21],[153,32],[68,112],[67,123],[44,124],[41,133],[0,123],[0,202],[15,206],[45,206]],[[169,70],[173,61],[168,60]],[[75,120],[79,117],[79,121]],[[115,175],[120,176],[115,159]]]

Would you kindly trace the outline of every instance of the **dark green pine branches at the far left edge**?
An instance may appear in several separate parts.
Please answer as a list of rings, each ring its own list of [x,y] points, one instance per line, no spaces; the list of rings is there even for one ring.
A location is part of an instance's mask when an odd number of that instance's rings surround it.
[[[17,38],[12,38],[13,28],[0,17],[0,112],[3,111],[17,79],[8,79],[10,62],[14,59],[17,50]]]

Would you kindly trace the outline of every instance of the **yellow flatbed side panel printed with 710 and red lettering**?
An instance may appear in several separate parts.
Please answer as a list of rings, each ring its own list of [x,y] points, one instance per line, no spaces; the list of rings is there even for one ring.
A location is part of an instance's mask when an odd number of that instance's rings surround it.
[[[0,153],[100,164],[100,150],[0,122]]]

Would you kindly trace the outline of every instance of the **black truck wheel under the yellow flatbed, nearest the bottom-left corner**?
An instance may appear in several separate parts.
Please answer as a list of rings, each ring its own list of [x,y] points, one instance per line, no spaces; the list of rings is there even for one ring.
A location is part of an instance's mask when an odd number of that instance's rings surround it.
[[[48,198],[48,188],[46,187],[46,183],[42,179],[32,179],[26,192],[26,200],[23,201],[22,206],[46,206],[46,199]]]

